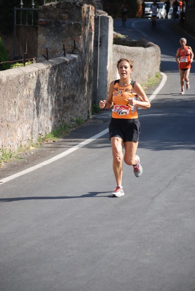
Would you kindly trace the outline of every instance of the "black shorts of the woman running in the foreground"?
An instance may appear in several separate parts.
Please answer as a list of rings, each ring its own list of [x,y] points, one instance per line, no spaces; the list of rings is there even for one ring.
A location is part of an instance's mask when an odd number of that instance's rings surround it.
[[[119,137],[124,142],[138,142],[140,130],[141,127],[138,118],[111,118],[109,124],[110,139],[112,137]]]

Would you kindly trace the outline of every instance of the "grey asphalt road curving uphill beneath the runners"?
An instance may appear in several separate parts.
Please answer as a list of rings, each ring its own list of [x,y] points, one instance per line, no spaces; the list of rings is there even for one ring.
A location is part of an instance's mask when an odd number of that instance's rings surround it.
[[[195,65],[181,96],[174,60],[179,38],[194,51],[195,38],[176,24],[114,21],[116,32],[160,46],[167,76],[139,111],[143,175],[124,164],[124,196],[110,197],[106,110],[0,172],[0,291],[195,291]]]

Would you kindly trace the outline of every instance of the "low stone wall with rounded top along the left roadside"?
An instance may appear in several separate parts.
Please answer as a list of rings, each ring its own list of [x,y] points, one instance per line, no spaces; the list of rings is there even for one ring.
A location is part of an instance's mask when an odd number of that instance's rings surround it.
[[[0,148],[17,150],[53,128],[86,120],[91,101],[80,56],[0,71]]]

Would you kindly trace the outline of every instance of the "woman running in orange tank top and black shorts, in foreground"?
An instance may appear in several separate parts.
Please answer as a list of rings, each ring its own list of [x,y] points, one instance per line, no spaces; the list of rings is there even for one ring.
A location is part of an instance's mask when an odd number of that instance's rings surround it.
[[[125,148],[124,162],[133,166],[135,177],[141,176],[143,171],[140,158],[136,155],[140,133],[137,107],[150,108],[150,102],[141,85],[130,78],[133,71],[132,64],[133,61],[128,58],[122,58],[117,62],[120,79],[110,83],[107,100],[99,101],[100,109],[113,107],[109,133],[116,187],[112,197],[124,195],[122,187],[123,145]]]

